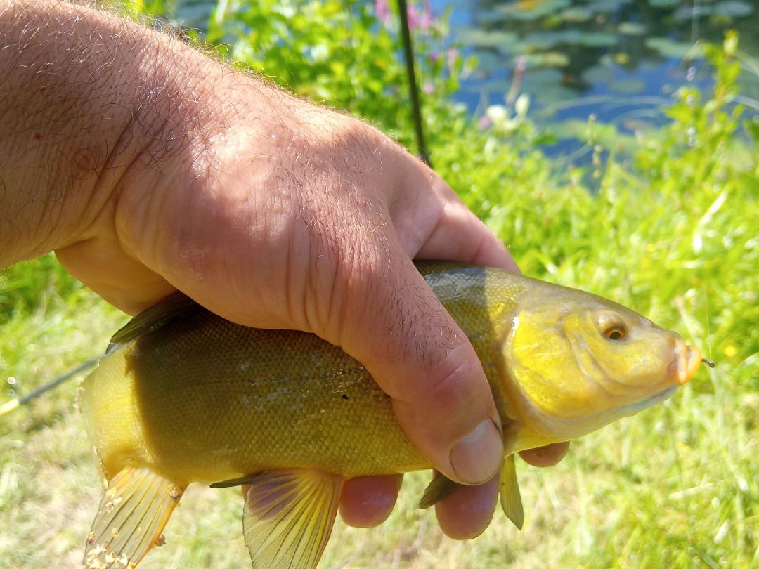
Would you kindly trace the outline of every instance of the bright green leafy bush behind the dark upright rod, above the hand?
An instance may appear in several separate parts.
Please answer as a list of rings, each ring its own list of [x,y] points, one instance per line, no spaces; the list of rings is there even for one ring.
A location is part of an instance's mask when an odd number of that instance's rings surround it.
[[[376,5],[361,0],[220,2],[207,39],[236,64],[314,101],[360,115],[411,144],[396,14],[385,4],[377,17]],[[462,60],[455,50],[442,52],[444,21],[433,20],[422,5],[413,9],[420,14],[411,24],[422,86],[434,94],[426,110],[434,120],[450,106],[447,96],[458,86]]]

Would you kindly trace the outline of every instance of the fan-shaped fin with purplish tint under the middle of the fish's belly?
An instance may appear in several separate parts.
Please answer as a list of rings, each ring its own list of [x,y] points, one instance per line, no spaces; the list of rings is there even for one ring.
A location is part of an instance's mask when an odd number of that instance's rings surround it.
[[[343,478],[320,470],[277,470],[250,480],[245,545],[255,569],[312,569],[332,533]]]

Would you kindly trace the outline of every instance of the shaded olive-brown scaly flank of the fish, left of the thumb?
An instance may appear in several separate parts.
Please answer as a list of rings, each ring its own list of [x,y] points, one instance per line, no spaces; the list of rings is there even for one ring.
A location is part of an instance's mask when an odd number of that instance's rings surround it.
[[[133,349],[109,356],[83,385],[93,398],[108,398],[119,383],[132,386],[131,405],[122,413],[140,417],[143,442],[134,457],[120,446],[109,452],[111,445],[101,442],[106,473],[144,454],[184,484],[272,467],[346,476],[429,467],[398,426],[389,398],[338,347],[303,332],[232,325],[206,311],[174,325],[204,332],[146,335]],[[225,358],[219,362],[213,354]],[[329,364],[308,374],[313,358]],[[250,361],[244,371],[241,360]]]

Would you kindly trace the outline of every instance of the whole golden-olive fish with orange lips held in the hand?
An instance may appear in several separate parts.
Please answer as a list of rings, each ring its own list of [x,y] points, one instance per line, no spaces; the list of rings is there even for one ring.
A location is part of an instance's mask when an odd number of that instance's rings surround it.
[[[524,508],[515,453],[575,439],[689,382],[698,348],[611,300],[499,269],[420,262],[468,336],[502,419],[502,510]],[[90,569],[136,567],[191,483],[250,486],[253,567],[317,567],[343,483],[431,469],[367,369],[306,332],[254,329],[177,293],[119,330],[82,383],[105,492]],[[458,484],[433,477],[427,508]]]

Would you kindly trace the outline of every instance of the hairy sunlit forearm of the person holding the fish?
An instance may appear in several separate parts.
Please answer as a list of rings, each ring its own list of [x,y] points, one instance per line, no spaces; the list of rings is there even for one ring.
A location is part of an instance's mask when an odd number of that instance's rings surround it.
[[[201,101],[225,71],[165,34],[65,2],[0,0],[0,42],[0,269],[87,238],[124,177],[157,175],[211,136],[214,106]]]

